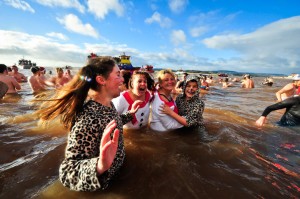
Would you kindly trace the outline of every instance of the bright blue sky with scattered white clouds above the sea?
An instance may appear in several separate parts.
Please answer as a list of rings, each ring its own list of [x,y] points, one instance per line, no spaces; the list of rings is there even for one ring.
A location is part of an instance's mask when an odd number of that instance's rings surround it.
[[[0,63],[300,73],[299,0],[0,0]]]

